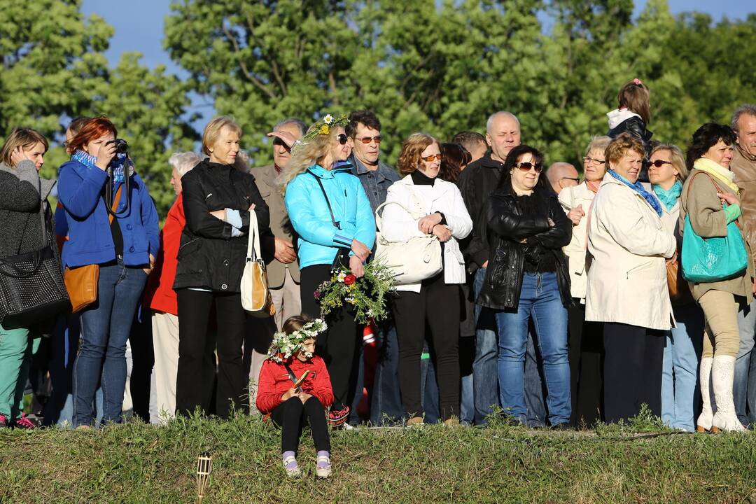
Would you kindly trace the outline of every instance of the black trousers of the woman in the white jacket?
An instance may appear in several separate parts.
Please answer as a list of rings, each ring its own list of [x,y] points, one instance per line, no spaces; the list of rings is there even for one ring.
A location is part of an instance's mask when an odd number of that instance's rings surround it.
[[[422,416],[420,355],[426,322],[435,352],[435,371],[441,396],[442,419],[459,415],[460,408],[460,301],[459,286],[446,285],[444,274],[425,280],[420,292],[399,292],[394,320],[399,342],[399,385],[408,416]]]

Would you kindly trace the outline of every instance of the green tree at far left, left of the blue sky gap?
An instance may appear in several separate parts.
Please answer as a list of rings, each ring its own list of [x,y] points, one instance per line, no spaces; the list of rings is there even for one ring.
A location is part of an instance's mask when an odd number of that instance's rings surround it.
[[[104,51],[113,27],[96,15],[85,19],[80,7],[80,0],[0,0],[0,137],[19,125],[39,129],[52,147],[43,175],[54,177],[67,159],[60,145],[67,122],[106,114],[165,215],[175,198],[166,160],[197,138],[192,118],[183,118],[187,87],[163,66],[141,66],[139,54],[123,54],[110,70]]]

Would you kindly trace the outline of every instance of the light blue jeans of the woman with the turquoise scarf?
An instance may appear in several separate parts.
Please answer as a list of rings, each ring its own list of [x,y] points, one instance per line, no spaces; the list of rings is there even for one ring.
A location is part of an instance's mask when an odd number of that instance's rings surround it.
[[[667,333],[662,361],[662,420],[671,428],[695,430],[699,404],[704,314],[696,303],[674,308],[677,327]]]

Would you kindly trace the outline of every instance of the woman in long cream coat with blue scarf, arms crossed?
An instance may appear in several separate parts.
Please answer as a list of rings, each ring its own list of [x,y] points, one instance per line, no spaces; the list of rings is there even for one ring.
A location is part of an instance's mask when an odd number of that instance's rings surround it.
[[[655,415],[662,409],[662,331],[673,322],[665,259],[677,243],[662,204],[637,182],[644,152],[627,134],[609,144],[609,172],[588,216],[585,320],[604,323],[606,422],[637,416],[644,403]]]

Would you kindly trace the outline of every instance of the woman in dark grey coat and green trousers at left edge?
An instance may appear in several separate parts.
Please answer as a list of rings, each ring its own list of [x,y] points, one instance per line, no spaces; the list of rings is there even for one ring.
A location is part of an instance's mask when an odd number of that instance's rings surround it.
[[[49,243],[52,230],[42,222],[50,222],[47,196],[54,181],[39,178],[47,150],[45,137],[29,128],[14,129],[0,150],[0,260]],[[0,428],[35,426],[20,414],[33,346],[39,345],[33,332],[7,322],[0,325]]]

